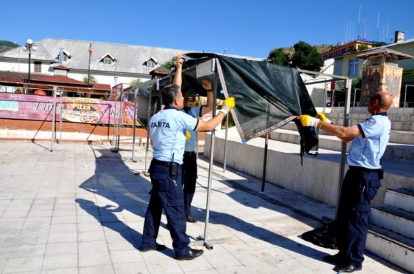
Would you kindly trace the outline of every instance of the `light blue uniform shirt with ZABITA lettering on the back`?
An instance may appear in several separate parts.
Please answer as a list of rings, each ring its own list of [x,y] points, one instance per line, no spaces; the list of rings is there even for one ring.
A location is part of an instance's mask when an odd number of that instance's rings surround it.
[[[172,107],[150,118],[152,156],[160,161],[183,163],[186,130],[195,130],[198,119]]]

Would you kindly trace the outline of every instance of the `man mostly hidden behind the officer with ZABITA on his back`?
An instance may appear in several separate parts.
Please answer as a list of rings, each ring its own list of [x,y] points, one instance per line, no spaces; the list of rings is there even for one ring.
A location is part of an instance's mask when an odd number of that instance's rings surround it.
[[[177,65],[179,67],[179,65]],[[181,87],[181,74],[175,74],[174,82]],[[204,116],[213,109],[213,87],[210,81],[203,80],[202,85],[207,91],[207,104],[205,106],[189,107],[188,101],[184,99],[184,109],[186,114],[198,118]],[[198,131],[187,131],[186,147],[184,149],[184,160],[182,165],[182,176],[184,184],[184,207],[186,209],[187,222],[197,222],[191,215],[191,202],[195,193],[195,185],[197,182],[197,157],[195,149],[197,147]]]

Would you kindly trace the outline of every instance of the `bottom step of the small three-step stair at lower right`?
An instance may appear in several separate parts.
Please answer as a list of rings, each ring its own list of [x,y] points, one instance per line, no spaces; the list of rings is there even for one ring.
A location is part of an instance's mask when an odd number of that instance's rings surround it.
[[[369,224],[366,249],[414,273],[413,240]]]

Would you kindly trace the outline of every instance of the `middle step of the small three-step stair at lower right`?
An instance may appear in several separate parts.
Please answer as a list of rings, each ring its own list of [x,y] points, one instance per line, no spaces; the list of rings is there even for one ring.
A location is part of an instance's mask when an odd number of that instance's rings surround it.
[[[369,222],[414,240],[414,213],[377,204],[372,207]]]

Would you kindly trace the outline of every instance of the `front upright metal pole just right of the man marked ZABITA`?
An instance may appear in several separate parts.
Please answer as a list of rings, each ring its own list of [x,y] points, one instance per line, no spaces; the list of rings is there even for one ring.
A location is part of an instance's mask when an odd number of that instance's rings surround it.
[[[214,74],[214,87],[213,87],[213,117],[215,116],[216,112],[216,99],[217,99],[217,85],[219,77],[217,75],[217,67],[216,67],[217,59],[213,59],[212,70],[215,72]],[[228,114],[227,114],[228,115]],[[211,246],[206,245],[207,237],[208,237],[208,222],[210,220],[210,195],[211,195],[211,181],[213,178],[213,161],[214,161],[214,139],[215,139],[215,129],[211,131],[211,140],[210,140],[210,165],[208,167],[208,188],[207,188],[207,202],[206,202],[206,222],[204,226],[204,245],[211,249]]]

